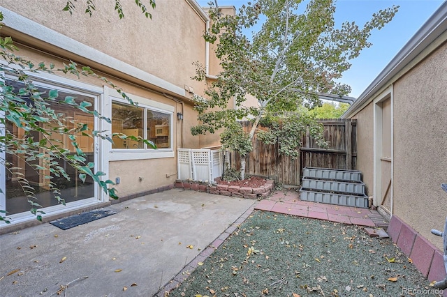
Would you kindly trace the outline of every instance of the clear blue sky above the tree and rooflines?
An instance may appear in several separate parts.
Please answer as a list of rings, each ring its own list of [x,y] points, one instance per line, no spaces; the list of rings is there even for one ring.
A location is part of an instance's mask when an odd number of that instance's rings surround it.
[[[196,0],[200,6],[208,6],[210,0]],[[219,6],[239,8],[249,0],[217,0]],[[212,0],[214,3],[214,0]],[[253,1],[251,1],[253,2]],[[303,4],[309,1],[305,0]],[[425,21],[441,6],[443,0],[338,0],[335,22],[344,21],[365,24],[373,13],[393,5],[400,6],[393,20],[379,30],[372,32],[369,41],[372,47],[363,50],[353,66],[344,73],[342,82],[352,88],[350,96],[358,98],[367,86],[393,59]]]

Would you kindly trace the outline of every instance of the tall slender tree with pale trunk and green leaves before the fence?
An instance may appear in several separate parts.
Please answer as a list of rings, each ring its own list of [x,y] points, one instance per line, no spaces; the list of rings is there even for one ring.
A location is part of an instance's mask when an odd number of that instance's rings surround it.
[[[222,15],[218,7],[210,10],[212,26],[204,37],[216,44],[222,71],[210,80],[198,65],[195,78],[205,80],[208,88],[207,100],[196,102],[200,124],[191,129],[193,135],[219,128],[232,130],[237,120],[245,118],[254,121],[251,131],[229,135],[251,142],[258,123],[267,115],[269,122],[275,116],[277,121],[286,116],[304,123],[307,119],[299,116],[300,107],[318,106],[316,93],[345,96],[351,91],[339,82],[342,73],[351,67],[351,59],[371,46],[372,30],[390,22],[398,9],[379,10],[363,26],[344,22],[337,28],[335,1],[311,0],[305,9],[301,6],[301,0],[258,0],[242,6],[235,16]],[[256,28],[260,29],[254,31]],[[254,32],[247,36],[247,31]],[[256,98],[258,106],[244,106],[247,95]],[[228,108],[231,100],[235,100],[235,109]],[[288,116],[290,112],[298,116]],[[221,140],[225,146],[228,138]],[[299,142],[279,142],[280,146],[294,144]],[[244,158],[241,160],[243,178]]]

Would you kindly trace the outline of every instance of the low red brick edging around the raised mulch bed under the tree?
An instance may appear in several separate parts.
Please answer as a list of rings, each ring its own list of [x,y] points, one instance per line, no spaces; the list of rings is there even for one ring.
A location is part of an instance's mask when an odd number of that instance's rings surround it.
[[[274,181],[268,179],[264,185],[259,188],[240,187],[236,185],[210,185],[200,181],[175,181],[175,188],[185,190],[194,190],[198,192],[207,192],[214,195],[224,195],[246,199],[264,199],[269,197],[274,190]]]

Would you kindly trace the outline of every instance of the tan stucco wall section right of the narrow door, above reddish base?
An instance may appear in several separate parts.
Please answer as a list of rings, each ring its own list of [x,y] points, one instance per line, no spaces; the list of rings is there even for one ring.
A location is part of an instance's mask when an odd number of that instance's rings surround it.
[[[444,45],[394,86],[394,213],[438,248],[430,229],[447,215],[446,61]]]

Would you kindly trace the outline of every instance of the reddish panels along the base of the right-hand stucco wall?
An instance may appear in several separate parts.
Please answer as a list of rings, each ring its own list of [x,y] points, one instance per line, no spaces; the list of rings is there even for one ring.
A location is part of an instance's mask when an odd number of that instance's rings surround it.
[[[446,277],[444,268],[443,252],[439,251],[427,238],[420,235],[397,215],[393,215],[388,226],[388,235],[393,239],[393,243],[406,254],[406,257],[413,260],[414,266],[430,282],[442,280]],[[444,295],[447,297],[447,290]]]

